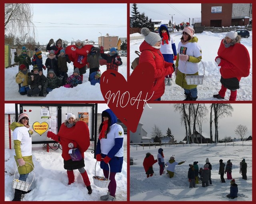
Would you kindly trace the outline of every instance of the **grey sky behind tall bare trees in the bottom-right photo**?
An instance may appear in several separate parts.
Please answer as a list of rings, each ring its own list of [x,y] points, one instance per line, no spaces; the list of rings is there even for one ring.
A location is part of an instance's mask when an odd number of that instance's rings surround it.
[[[174,138],[179,142],[184,139],[186,130],[185,127],[180,124],[180,114],[174,112],[174,104],[149,104],[145,106],[140,122],[143,124],[142,128],[148,133],[148,137],[151,137],[152,127],[154,125],[158,126],[162,131],[163,135],[166,135],[168,128],[171,129]],[[232,117],[220,118],[218,122],[219,126],[219,139],[227,137],[236,137],[234,133],[238,125],[244,125],[248,128],[248,133],[245,137],[252,135],[252,104],[231,104],[234,108],[232,112]],[[206,104],[207,107],[210,104]],[[209,116],[207,121],[203,124],[202,131],[210,136],[210,108]],[[214,125],[214,124],[213,124]],[[196,127],[198,130],[198,127]],[[199,131],[199,130],[198,130]],[[213,127],[213,134],[215,129]]]

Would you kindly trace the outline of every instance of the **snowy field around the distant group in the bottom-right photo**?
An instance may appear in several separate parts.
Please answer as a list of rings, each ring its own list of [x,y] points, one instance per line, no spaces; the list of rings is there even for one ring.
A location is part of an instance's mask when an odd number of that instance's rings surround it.
[[[154,176],[146,178],[143,168],[143,160],[147,152],[157,159],[160,146],[137,147],[130,145],[130,157],[133,157],[134,165],[130,166],[130,200],[131,201],[252,201],[252,141],[236,141],[233,143],[197,144],[190,145],[162,145],[164,149],[164,162],[174,155],[177,162],[186,161],[175,167],[174,177],[170,179],[164,173],[159,175],[159,165],[153,165]],[[196,184],[196,188],[188,188],[189,164],[198,161],[198,167],[204,167],[206,158],[212,164],[212,185],[203,188],[202,184]],[[240,161],[245,159],[247,163],[247,180],[242,179],[239,173]],[[232,162],[232,178],[238,184],[238,198],[230,200],[226,197],[230,192],[230,180],[220,182],[219,160],[227,164]],[[167,172],[166,172],[167,173]]]

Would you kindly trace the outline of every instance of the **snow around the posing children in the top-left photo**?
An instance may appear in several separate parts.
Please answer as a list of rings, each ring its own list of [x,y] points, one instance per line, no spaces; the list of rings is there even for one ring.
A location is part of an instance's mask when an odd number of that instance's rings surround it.
[[[47,53],[46,53],[47,54]],[[43,56],[43,64],[47,59],[46,55],[42,54]],[[123,64],[119,66],[118,72],[124,76],[127,80],[127,57],[121,57]],[[67,63],[68,64],[68,63]],[[33,66],[30,65],[30,70],[32,70]],[[107,66],[103,65],[100,66],[100,71],[103,73],[106,71]],[[71,62],[68,64],[68,76],[72,75],[74,71],[73,63]],[[18,84],[15,82],[16,74],[18,73],[18,66],[9,67],[5,69],[5,77],[4,77],[4,95],[6,101],[35,101],[35,100],[46,100],[46,101],[104,101],[102,93],[100,91],[100,84],[96,84],[92,86],[91,83],[88,81],[89,78],[89,69],[86,70],[86,73],[83,77],[83,83],[78,84],[78,86],[74,88],[65,88],[63,86],[59,88],[55,88],[46,97],[40,96],[32,96],[28,97],[27,95],[20,95],[18,92]],[[43,70],[44,75],[47,75],[47,70]]]

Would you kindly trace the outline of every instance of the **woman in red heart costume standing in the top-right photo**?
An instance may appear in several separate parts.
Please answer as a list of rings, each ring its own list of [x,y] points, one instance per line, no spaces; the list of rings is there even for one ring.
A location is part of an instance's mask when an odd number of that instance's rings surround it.
[[[241,36],[236,31],[230,31],[220,43],[215,61],[220,67],[222,85],[219,93],[213,95],[214,98],[224,99],[226,90],[229,89],[229,100],[236,100],[241,78],[250,74],[250,55],[240,40]]]

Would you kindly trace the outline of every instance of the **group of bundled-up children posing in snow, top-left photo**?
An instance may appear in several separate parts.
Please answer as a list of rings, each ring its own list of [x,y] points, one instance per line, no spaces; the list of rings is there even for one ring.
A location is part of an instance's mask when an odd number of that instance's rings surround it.
[[[68,77],[67,63],[71,63],[65,50],[62,48],[62,40],[56,41],[56,46],[50,46],[54,43],[51,39],[48,43],[47,49],[50,49],[45,62],[42,63],[42,51],[36,49],[36,53],[32,60],[27,55],[27,50],[22,47],[21,55],[14,52],[14,61],[19,63],[19,73],[16,75],[16,83],[19,84],[19,92],[21,95],[28,96],[46,96],[54,88],[64,86],[66,88],[73,88],[78,84],[82,84],[82,75],[79,69],[74,68],[73,74]],[[101,72],[99,70],[99,56],[106,59],[107,69],[114,69],[118,71],[118,66],[122,65],[122,60],[118,56],[116,48],[110,49],[110,54],[105,54],[104,49],[92,47],[90,53],[87,54],[87,63],[90,65],[89,81],[92,85],[100,84]],[[29,66],[33,65],[33,70],[30,72]],[[47,69],[47,76],[43,74],[43,69]]]

